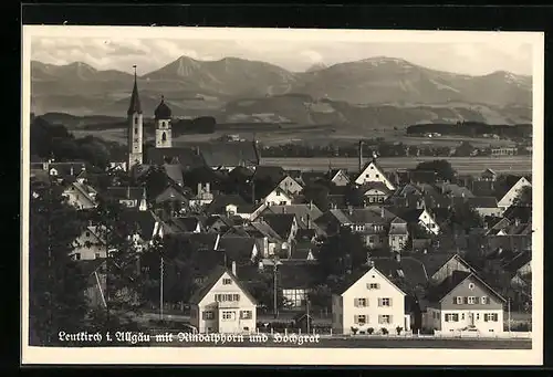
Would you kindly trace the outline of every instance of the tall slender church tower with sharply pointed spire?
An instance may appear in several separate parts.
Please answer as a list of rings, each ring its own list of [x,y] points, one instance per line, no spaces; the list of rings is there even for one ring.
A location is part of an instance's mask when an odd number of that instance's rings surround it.
[[[135,69],[135,85],[131,95],[131,105],[127,111],[128,122],[128,171],[136,166],[143,164],[143,113],[140,98],[138,97],[138,85],[136,83],[136,65]]]

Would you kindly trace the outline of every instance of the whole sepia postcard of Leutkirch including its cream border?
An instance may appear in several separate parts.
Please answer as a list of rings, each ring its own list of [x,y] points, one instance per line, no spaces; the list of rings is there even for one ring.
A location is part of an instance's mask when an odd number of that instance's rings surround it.
[[[543,363],[543,33],[22,38],[22,364]]]

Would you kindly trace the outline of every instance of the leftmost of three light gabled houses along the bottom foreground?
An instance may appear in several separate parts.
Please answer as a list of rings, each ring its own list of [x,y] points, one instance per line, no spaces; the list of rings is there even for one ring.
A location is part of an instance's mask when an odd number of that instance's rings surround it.
[[[190,297],[190,324],[199,333],[248,334],[257,331],[257,302],[232,271],[217,266]]]

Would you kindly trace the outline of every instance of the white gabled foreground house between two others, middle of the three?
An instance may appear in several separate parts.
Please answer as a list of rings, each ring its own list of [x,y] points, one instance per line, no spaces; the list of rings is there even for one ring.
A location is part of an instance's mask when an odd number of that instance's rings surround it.
[[[332,329],[336,334],[352,334],[357,328],[375,333],[396,333],[397,327],[410,329],[405,314],[405,292],[372,266],[354,274],[332,295]]]

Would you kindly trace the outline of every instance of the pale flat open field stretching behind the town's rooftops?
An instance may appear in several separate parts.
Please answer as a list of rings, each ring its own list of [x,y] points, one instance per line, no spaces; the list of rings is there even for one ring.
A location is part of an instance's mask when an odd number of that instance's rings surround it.
[[[532,157],[382,157],[378,164],[384,170],[415,168],[421,161],[447,159],[459,174],[478,174],[486,168],[499,174],[530,174],[532,171]],[[281,166],[286,170],[325,171],[332,168],[358,170],[358,159],[347,157],[262,157],[260,165]]]

